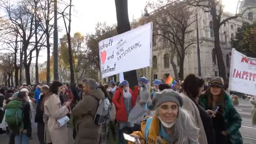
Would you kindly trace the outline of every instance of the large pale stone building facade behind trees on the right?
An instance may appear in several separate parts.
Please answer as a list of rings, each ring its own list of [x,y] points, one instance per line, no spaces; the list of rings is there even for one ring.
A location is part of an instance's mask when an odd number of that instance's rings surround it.
[[[251,0],[256,1],[256,0]],[[247,2],[243,2],[240,6],[241,11],[246,9],[245,7],[249,7]],[[254,3],[256,4],[256,3]],[[205,13],[202,10],[197,9],[198,13],[198,30],[199,30],[199,41],[202,42],[199,44],[200,49],[200,58],[201,58],[201,76],[204,78],[212,78],[219,75],[218,70],[218,62],[214,49],[214,36],[213,36],[213,23],[212,23],[212,15],[211,13]],[[233,16],[234,14],[223,12],[222,19]],[[222,50],[222,57],[226,66],[226,74],[229,77],[229,69],[230,69],[230,60],[231,60],[231,44],[230,41],[232,38],[235,38],[237,28],[242,27],[242,23],[253,22],[253,19],[248,19],[246,16],[248,13],[244,14],[244,18],[232,19],[226,22],[220,28],[220,46]],[[256,15],[256,14],[254,14]],[[251,17],[251,15],[250,15]],[[141,21],[140,18],[138,20],[133,20],[132,28],[138,27],[138,22]],[[192,18],[196,19],[196,18]],[[196,27],[196,22],[191,27]],[[196,30],[193,31],[194,36],[196,36]],[[163,43],[163,39],[159,37],[155,37],[154,42],[156,43],[153,46],[153,79],[165,79],[167,76],[174,77],[173,68],[170,63],[170,51],[163,50],[161,47]],[[196,39],[195,39],[196,41]],[[179,59],[178,57],[174,58],[174,62],[177,65],[177,69],[179,71]],[[198,62],[197,62],[197,44],[191,45],[187,51],[184,62],[184,77],[186,75],[194,73],[198,74]],[[143,68],[137,70],[137,76],[146,76],[149,77],[149,68]]]

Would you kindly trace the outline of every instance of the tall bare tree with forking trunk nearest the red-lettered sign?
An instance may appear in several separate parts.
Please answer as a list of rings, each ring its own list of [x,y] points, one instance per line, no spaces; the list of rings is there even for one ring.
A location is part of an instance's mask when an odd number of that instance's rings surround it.
[[[214,35],[214,49],[217,54],[217,61],[218,61],[218,69],[219,69],[219,76],[226,80],[226,67],[222,57],[222,51],[220,46],[220,27],[228,22],[229,20],[236,19],[238,17],[242,17],[245,9],[242,13],[236,14],[227,18],[222,18],[223,16],[223,5],[222,0],[186,0],[186,3],[192,6],[201,7],[204,12],[210,12],[212,15],[212,23],[213,23],[213,35]],[[237,4],[238,6],[238,4]],[[251,9],[251,8],[249,8]]]

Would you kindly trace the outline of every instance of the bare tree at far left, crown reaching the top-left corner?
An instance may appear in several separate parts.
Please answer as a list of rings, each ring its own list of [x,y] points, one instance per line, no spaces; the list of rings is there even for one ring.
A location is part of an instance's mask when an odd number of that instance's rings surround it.
[[[16,31],[22,39],[22,52],[23,52],[23,65],[25,68],[26,83],[30,85],[30,72],[29,68],[32,54],[35,47],[31,48],[31,38],[35,34],[34,20],[35,9],[31,1],[22,1],[17,4],[6,1],[2,7],[7,13],[7,17],[13,25],[13,30]]]

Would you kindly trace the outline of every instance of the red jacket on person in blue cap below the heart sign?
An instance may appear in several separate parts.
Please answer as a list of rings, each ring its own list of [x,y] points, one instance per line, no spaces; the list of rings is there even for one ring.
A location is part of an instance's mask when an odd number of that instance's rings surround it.
[[[132,90],[129,90],[130,93],[132,94]],[[113,100],[112,102],[116,106],[116,121],[118,122],[127,122],[128,121],[128,116],[125,110],[124,106],[124,94],[123,94],[123,89],[121,87],[117,87],[116,92],[114,93]],[[133,99],[133,94],[132,94],[132,99]],[[133,107],[133,105],[132,105]]]

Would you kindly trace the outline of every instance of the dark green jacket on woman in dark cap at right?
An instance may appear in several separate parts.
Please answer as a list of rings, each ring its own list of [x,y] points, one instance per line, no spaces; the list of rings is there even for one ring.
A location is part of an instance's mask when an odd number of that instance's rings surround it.
[[[208,106],[208,97],[209,97],[208,94],[202,94],[198,100],[199,105],[201,105],[205,110],[209,109],[210,107]],[[226,100],[226,106],[225,106],[225,113],[223,114],[223,117],[225,119],[225,125],[227,126],[227,132],[230,138],[230,142],[231,144],[242,144],[243,138],[241,133],[239,132],[242,118],[237,113],[228,94],[226,94],[225,100]]]

